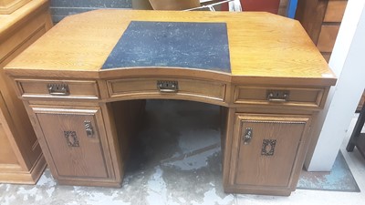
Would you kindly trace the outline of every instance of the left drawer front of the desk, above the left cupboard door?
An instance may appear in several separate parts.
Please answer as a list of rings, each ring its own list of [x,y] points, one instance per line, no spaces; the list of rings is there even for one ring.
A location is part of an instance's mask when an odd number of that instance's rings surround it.
[[[99,99],[96,81],[16,79],[22,97]]]

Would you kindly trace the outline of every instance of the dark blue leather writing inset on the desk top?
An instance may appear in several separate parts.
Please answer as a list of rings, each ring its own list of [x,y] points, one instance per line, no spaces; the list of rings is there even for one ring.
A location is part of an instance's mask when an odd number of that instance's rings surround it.
[[[225,23],[132,21],[103,69],[190,67],[231,72]]]

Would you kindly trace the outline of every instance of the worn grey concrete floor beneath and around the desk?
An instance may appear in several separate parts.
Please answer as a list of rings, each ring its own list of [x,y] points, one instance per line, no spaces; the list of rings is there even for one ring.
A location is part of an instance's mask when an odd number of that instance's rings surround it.
[[[134,157],[128,163],[122,188],[58,186],[47,169],[36,186],[0,184],[0,204],[364,203],[364,192],[296,190],[289,197],[225,194],[218,116],[215,106],[149,101],[144,128],[135,138],[135,145],[142,146],[132,147]],[[365,191],[365,160],[357,149],[352,153],[345,150],[355,121],[341,150],[360,190]]]

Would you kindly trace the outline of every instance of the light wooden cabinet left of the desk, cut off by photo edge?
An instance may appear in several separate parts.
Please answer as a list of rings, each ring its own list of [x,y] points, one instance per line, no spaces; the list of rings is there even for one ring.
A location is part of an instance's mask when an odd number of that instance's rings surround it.
[[[0,11],[5,3],[10,1],[0,1]],[[10,15],[0,15],[0,182],[34,184],[47,166],[3,67],[51,28],[48,8],[47,0],[33,0]]]

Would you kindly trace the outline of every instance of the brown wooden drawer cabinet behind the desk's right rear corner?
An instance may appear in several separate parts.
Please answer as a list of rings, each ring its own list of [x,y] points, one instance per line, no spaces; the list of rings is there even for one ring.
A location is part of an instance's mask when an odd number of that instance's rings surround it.
[[[325,59],[329,60],[347,0],[299,0],[296,19],[306,29]]]

